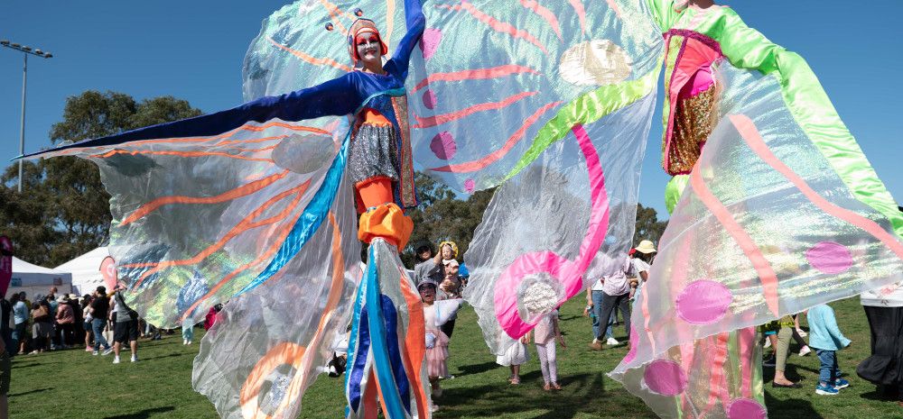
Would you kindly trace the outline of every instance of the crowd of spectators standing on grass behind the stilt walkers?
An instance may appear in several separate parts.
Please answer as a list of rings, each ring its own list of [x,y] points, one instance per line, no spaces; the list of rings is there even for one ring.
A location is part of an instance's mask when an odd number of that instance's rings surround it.
[[[424,242],[415,248],[417,263],[414,266],[414,282],[424,303],[425,341],[427,371],[434,399],[441,399],[442,379],[454,378],[449,373],[449,342],[455,328],[457,310],[461,306],[461,295],[468,283],[466,267],[458,261],[458,246],[453,241],[442,241],[438,251],[432,243]],[[594,339],[590,342],[592,351],[602,351],[619,346],[612,328],[618,325],[616,312],[620,311],[626,335],[630,332],[630,311],[633,300],[642,292],[654,262],[656,248],[652,241],[640,241],[636,248],[629,250],[624,265],[611,275],[599,278],[587,289],[587,306],[584,315],[591,318]],[[123,290],[117,286],[112,293],[106,287],[97,287],[90,295],[59,294],[52,287],[46,296],[36,296],[29,300],[24,293],[14,293],[10,298],[0,300],[0,334],[5,345],[0,354],[0,367],[9,364],[13,355],[38,354],[45,351],[66,350],[84,345],[85,351],[93,355],[114,353],[113,363],[120,363],[124,347],[130,351],[130,360],[137,362],[137,341],[139,337],[152,340],[162,339],[163,330],[145,323],[126,304]],[[903,406],[903,287],[864,293],[861,303],[865,307],[872,334],[872,356],[863,360],[858,374],[879,386],[880,391],[898,398]],[[209,329],[217,320],[223,305],[210,309],[204,321]],[[774,369],[772,387],[800,388],[798,381],[787,378],[787,357],[793,342],[799,347],[796,352],[805,357],[815,351],[819,360],[819,377],[815,384],[815,394],[831,396],[850,382],[842,378],[836,351],[851,344],[843,336],[828,305],[817,305],[805,312],[809,332],[800,327],[798,314],[787,315],[774,322],[760,326],[764,348],[771,348],[765,357],[763,367]],[[194,324],[182,327],[182,343],[190,345],[194,339]],[[165,331],[172,333],[172,331]],[[349,330],[350,332],[350,330]],[[808,342],[805,338],[808,337]],[[112,341],[112,343],[110,343]],[[327,368],[330,376],[338,377],[344,371],[348,336],[340,337],[334,344],[336,354]],[[556,350],[560,345],[566,348],[559,327],[558,310],[545,314],[532,332],[507,346],[507,351],[499,355],[497,363],[510,369],[508,382],[521,382],[520,366],[530,360],[529,344],[533,343],[543,375],[546,391],[561,390],[557,376]],[[3,374],[0,369],[0,375]],[[8,369],[5,369],[8,371]],[[8,373],[0,377],[0,394],[8,391]],[[5,386],[5,387],[4,387]],[[5,399],[0,405],[5,404]],[[437,407],[438,408],[438,407]]]

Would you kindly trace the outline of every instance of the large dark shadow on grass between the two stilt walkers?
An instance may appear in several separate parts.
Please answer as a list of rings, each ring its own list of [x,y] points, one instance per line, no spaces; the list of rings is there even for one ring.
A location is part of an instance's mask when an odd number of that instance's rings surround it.
[[[653,417],[646,406],[622,404],[627,391],[605,388],[601,373],[563,376],[562,391],[542,389],[539,371],[521,375],[521,383],[511,386],[507,381],[476,387],[446,388],[436,400],[442,409],[437,418],[451,417],[530,417],[531,419],[569,419],[587,414],[595,417],[611,406],[626,406],[620,417]],[[524,414],[529,414],[525,416]]]

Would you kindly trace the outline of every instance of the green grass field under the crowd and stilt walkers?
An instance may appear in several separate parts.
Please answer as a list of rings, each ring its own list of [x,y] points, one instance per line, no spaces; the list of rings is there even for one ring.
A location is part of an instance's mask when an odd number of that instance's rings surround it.
[[[815,396],[818,359],[813,355],[788,360],[787,375],[802,378],[801,389],[766,386],[772,418],[903,418],[903,409],[880,400],[875,387],[855,376],[858,362],[869,353],[869,327],[858,298],[833,304],[842,332],[852,339],[839,352],[841,368],[852,386],[839,396]],[[449,360],[455,378],[445,380],[437,400],[436,418],[647,418],[655,417],[643,402],[605,376],[627,353],[625,345],[590,351],[589,319],[581,316],[582,297],[563,306],[562,328],[568,348],[559,348],[562,392],[542,390],[535,360],[522,370],[523,384],[507,384],[508,370],[495,364],[476,323],[476,314],[462,312]],[[200,329],[199,329],[200,331]],[[623,328],[615,333],[624,334]],[[200,333],[196,336],[200,340]],[[204,396],[191,389],[191,361],[197,343],[182,346],[181,336],[139,342],[141,361],[112,365],[112,356],[93,357],[83,350],[21,356],[13,362],[10,417],[14,419],[213,418],[216,412]],[[796,346],[791,348],[796,351]],[[125,359],[126,357],[124,357]],[[770,381],[772,370],[766,369]],[[340,418],[344,412],[341,378],[322,375],[303,399],[305,418]]]

